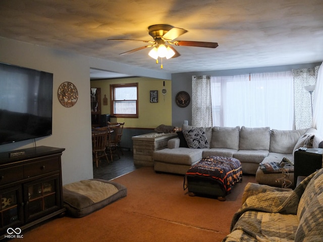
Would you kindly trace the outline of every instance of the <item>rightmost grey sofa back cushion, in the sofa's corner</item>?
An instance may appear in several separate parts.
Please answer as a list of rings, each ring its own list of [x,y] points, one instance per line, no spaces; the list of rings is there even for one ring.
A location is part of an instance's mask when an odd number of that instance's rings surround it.
[[[270,152],[292,154],[299,138],[307,129],[302,130],[272,130]],[[299,147],[298,147],[299,148]]]

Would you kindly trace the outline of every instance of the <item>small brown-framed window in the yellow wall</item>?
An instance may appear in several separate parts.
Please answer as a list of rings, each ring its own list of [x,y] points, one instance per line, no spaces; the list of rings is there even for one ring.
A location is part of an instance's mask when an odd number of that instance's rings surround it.
[[[111,84],[111,115],[138,117],[138,83]]]

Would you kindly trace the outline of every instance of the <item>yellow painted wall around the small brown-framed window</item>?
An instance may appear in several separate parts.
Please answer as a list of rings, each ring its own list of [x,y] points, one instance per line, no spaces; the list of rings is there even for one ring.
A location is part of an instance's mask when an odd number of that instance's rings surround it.
[[[167,94],[161,93],[165,81]],[[111,122],[125,122],[127,128],[156,128],[157,126],[172,125],[172,83],[170,80],[160,80],[145,77],[95,80],[91,81],[91,88],[101,88],[101,113],[110,114],[110,84],[138,83],[139,118],[111,118]],[[151,90],[158,90],[158,102],[150,103]],[[107,105],[103,105],[104,94]]]

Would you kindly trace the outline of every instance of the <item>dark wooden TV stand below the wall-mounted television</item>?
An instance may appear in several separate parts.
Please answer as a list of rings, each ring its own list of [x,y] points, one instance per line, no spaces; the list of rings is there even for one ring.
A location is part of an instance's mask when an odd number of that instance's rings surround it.
[[[65,213],[64,150],[39,146],[0,153],[0,240],[19,238],[25,228]]]

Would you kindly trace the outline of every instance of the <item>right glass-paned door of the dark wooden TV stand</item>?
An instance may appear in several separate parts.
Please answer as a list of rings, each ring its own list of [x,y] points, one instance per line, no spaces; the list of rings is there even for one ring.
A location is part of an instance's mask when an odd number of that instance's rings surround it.
[[[51,213],[59,207],[59,176],[51,176],[25,185],[28,191],[26,220]],[[25,195],[26,196],[26,195]]]

